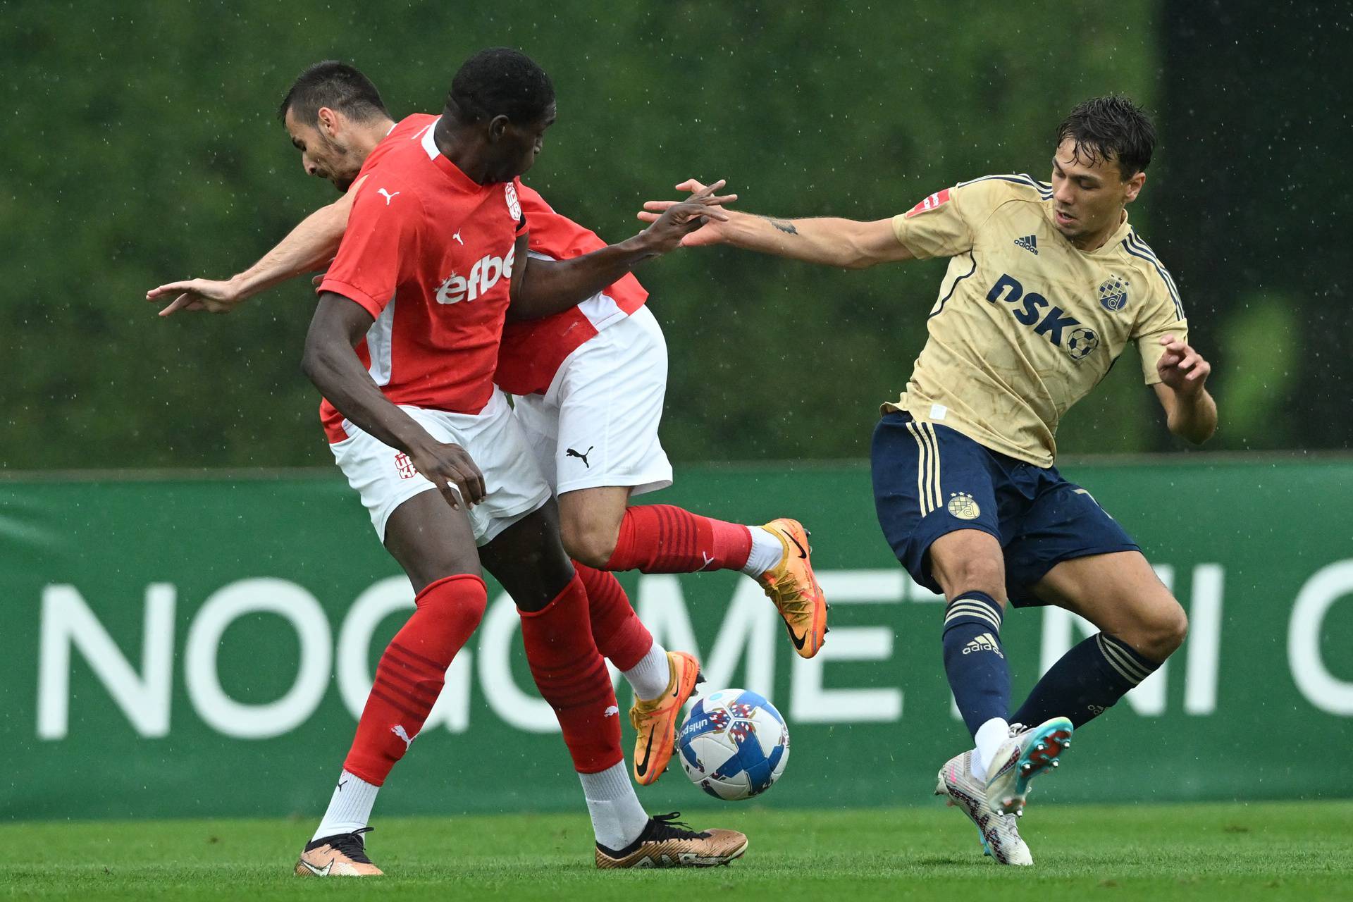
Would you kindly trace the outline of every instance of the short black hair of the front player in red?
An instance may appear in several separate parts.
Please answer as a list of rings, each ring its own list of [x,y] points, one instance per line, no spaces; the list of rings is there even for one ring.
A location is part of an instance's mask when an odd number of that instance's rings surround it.
[[[494,116],[528,124],[538,122],[552,103],[555,85],[549,76],[511,47],[488,47],[465,60],[446,95],[448,112],[465,124]]]

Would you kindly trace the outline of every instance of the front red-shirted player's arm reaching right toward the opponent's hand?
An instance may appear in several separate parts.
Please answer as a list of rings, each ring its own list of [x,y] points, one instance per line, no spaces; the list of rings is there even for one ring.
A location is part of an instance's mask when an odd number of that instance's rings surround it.
[[[708,188],[701,187],[689,200],[674,201],[660,215],[655,214],[653,224],[633,238],[590,254],[571,260],[540,260],[526,258],[518,252],[520,269],[514,275],[520,273],[520,277],[513,279],[507,318],[538,319],[568,310],[645,260],[675,250],[682,238],[702,223],[727,219],[728,211],[721,204],[737,200],[737,195],[716,196],[723,185],[723,181],[716,181]]]

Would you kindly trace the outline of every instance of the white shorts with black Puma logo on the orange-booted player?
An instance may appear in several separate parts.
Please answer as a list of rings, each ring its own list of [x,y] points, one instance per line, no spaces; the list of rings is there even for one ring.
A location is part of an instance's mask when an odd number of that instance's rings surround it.
[[[667,392],[667,342],[648,307],[607,326],[570,354],[544,395],[514,399],[534,461],[556,494],[672,484],[658,441]]]

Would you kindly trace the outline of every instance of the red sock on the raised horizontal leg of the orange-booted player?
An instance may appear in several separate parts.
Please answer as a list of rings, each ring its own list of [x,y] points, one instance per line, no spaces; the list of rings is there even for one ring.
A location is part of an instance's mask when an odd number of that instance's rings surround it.
[[[605,569],[644,573],[741,569],[751,550],[752,534],[746,526],[671,504],[643,504],[625,510],[616,550]]]

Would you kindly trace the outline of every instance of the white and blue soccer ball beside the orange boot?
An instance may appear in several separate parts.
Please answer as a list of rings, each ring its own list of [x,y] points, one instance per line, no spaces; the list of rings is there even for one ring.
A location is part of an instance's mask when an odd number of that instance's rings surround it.
[[[676,733],[676,753],[691,783],[714,798],[750,799],[771,787],[789,761],[789,729],[756,692],[702,695]]]

